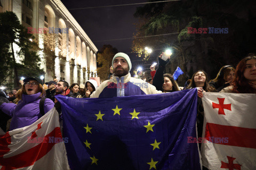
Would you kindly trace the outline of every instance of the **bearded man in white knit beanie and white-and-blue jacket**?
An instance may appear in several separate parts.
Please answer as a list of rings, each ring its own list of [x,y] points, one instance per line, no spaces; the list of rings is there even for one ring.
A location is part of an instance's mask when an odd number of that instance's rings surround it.
[[[106,80],[94,91],[91,98],[122,97],[161,94],[155,86],[141,79],[131,78],[132,63],[125,53],[117,53],[112,60],[113,79]]]

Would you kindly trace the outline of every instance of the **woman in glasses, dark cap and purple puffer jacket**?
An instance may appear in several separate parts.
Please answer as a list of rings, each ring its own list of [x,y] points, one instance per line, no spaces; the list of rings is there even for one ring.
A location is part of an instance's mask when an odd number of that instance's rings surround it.
[[[54,107],[51,99],[44,98],[45,90],[41,79],[30,77],[23,81],[21,92],[18,94],[18,98],[21,98],[18,104],[0,101],[1,111],[12,117],[10,131],[33,124]],[[40,112],[39,102],[41,98],[45,100]]]

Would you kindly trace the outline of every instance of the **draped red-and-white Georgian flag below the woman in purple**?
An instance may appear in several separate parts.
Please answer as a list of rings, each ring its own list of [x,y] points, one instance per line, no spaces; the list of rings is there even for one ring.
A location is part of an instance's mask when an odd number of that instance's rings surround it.
[[[35,123],[0,135],[0,169],[69,169],[55,108]]]

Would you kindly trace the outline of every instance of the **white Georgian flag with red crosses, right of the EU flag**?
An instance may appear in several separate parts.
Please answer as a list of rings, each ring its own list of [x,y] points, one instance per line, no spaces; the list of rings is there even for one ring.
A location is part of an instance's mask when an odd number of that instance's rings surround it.
[[[256,169],[256,95],[205,92],[202,163],[209,169]]]

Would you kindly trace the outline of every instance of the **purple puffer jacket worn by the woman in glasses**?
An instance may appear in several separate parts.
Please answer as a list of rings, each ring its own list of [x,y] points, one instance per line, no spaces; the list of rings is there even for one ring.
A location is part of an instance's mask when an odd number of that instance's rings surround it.
[[[25,126],[31,125],[42,117],[39,109],[39,101],[41,98],[38,97],[41,92],[35,95],[22,95],[22,100],[19,101],[18,105],[14,103],[4,103],[0,106],[0,109],[7,115],[12,117],[10,125],[10,131]],[[54,107],[54,103],[51,99],[46,98],[44,101],[44,113],[50,111]]]

